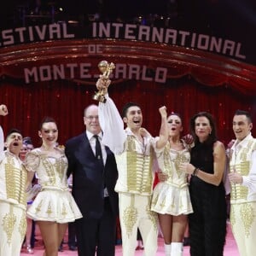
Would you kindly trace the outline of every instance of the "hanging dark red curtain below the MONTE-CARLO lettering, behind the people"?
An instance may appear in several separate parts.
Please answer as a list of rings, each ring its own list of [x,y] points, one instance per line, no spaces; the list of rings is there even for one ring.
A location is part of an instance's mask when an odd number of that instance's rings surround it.
[[[93,84],[78,84],[73,81],[53,81],[34,84],[19,84],[2,81],[0,102],[9,108],[9,115],[0,118],[4,131],[19,128],[24,136],[39,143],[38,126],[45,115],[56,119],[59,127],[59,143],[84,131],[84,108],[91,103]],[[225,144],[234,137],[232,117],[237,108],[253,113],[256,124],[255,96],[246,96],[230,86],[207,86],[190,76],[168,79],[166,84],[135,80],[113,83],[109,95],[119,110],[125,102],[137,102],[143,109],[143,125],[154,136],[158,135],[160,114],[158,108],[166,105],[168,112],[181,113],[184,133],[189,132],[189,119],[199,111],[213,114],[218,127],[218,137]],[[254,129],[255,136],[255,129]]]

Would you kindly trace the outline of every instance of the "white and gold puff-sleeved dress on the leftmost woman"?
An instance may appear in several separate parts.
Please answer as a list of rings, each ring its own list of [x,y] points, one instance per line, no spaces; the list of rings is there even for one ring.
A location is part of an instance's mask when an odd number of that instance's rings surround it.
[[[34,220],[73,222],[82,218],[79,207],[67,185],[67,158],[61,148],[61,156],[49,156],[40,148],[26,155],[24,165],[30,172],[37,172],[41,191],[36,196],[27,216]]]

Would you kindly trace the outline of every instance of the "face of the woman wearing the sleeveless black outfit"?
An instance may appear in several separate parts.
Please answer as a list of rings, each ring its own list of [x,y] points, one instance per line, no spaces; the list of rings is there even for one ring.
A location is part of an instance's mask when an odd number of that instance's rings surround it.
[[[199,138],[200,142],[206,141],[211,132],[212,127],[207,117],[199,116],[195,119],[195,135]]]

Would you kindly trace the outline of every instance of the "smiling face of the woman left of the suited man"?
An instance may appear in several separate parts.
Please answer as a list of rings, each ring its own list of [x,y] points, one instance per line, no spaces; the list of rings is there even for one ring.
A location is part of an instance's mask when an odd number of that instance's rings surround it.
[[[55,146],[58,139],[58,129],[55,122],[44,123],[41,131],[38,131],[38,136],[42,138],[43,145],[47,148]]]

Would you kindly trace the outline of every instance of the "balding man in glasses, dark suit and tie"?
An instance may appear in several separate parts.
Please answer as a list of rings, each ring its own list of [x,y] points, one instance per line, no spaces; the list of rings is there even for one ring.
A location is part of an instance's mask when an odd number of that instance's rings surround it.
[[[86,131],[69,139],[65,149],[67,175],[73,173],[73,197],[83,214],[76,220],[78,252],[79,256],[112,256],[118,216],[118,195],[113,190],[117,166],[113,153],[101,143],[96,105],[84,109],[84,125]]]

